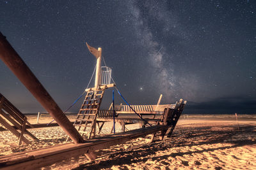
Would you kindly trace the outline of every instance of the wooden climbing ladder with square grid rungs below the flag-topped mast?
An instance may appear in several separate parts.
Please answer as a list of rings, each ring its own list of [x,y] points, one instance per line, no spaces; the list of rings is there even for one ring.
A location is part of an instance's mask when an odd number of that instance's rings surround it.
[[[74,127],[77,127],[77,131],[79,131],[81,136],[88,134],[88,139],[95,136],[97,114],[99,113],[100,104],[105,90],[106,86],[102,89],[99,87],[97,90],[93,90],[92,88],[88,90],[79,113],[77,114],[76,121],[74,122]]]

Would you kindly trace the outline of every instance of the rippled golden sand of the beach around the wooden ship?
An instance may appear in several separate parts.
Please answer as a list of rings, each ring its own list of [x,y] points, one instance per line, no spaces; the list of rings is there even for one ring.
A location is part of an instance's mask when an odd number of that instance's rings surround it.
[[[35,115],[28,118],[36,122]],[[45,116],[40,119],[40,123],[49,121]],[[108,133],[110,126],[104,125],[103,132]],[[127,125],[129,130],[138,127]],[[99,157],[92,162],[81,155],[42,169],[256,169],[256,115],[239,115],[239,127],[234,115],[182,116],[171,138],[156,138],[154,143],[149,143],[150,136],[138,138],[97,151]],[[60,127],[29,131],[40,141],[22,146],[12,133],[1,131],[0,154],[57,145],[67,138]]]

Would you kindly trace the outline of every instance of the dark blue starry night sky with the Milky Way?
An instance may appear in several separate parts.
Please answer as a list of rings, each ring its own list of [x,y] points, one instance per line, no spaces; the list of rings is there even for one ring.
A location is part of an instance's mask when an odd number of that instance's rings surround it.
[[[0,31],[62,110],[92,76],[88,42],[130,104],[163,94],[186,99],[185,113],[256,113],[256,1],[1,0]],[[24,113],[45,111],[2,61],[0,92]]]

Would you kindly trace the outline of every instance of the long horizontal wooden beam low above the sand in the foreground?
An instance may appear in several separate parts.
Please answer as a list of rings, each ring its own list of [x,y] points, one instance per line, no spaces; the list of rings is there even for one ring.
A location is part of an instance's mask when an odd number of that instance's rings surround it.
[[[136,129],[120,134],[111,134],[102,138],[89,139],[85,143],[67,143],[48,148],[15,153],[0,157],[0,169],[33,169],[54,164],[58,161],[76,157],[84,153],[92,153],[95,150],[118,145],[131,139],[139,138],[147,134],[167,130],[170,125],[155,125]]]

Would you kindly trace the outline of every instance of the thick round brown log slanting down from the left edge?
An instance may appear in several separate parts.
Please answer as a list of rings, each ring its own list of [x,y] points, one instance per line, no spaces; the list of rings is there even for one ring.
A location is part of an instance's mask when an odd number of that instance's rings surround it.
[[[60,125],[63,131],[66,132],[68,136],[75,143],[83,143],[83,137],[77,132],[76,128],[68,120],[68,118],[63,114],[60,107],[50,94],[45,90],[44,86],[32,73],[25,62],[20,58],[19,54],[15,52],[10,43],[0,32],[0,59],[3,60],[4,64],[8,66],[11,71],[19,78],[23,85],[33,94],[37,101],[42,104],[45,110],[50,113],[52,118]]]

